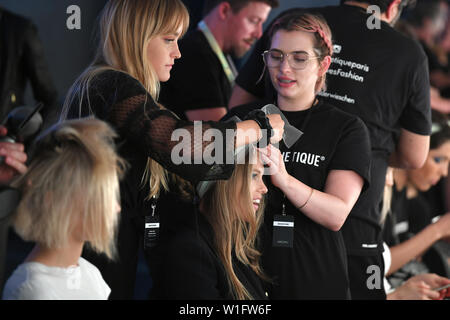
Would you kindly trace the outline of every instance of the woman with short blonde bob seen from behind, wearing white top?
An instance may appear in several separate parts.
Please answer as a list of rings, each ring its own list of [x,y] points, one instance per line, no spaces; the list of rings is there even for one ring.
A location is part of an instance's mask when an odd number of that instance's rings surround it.
[[[99,270],[81,258],[87,242],[115,257],[123,160],[114,131],[95,119],[58,124],[39,137],[13,227],[35,246],[6,283],[4,299],[107,299]]]

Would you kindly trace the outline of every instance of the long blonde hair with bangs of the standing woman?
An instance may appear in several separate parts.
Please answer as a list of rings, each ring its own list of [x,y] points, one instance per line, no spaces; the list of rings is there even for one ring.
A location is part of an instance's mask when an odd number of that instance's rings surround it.
[[[177,32],[180,26],[183,35],[189,27],[189,13],[180,0],[109,0],[100,15],[100,45],[94,62],[69,89],[61,118],[67,117],[75,101],[81,114],[84,99],[93,114],[89,83],[106,70],[129,74],[157,101],[160,83],[147,55],[148,43],[158,35]],[[150,184],[149,197],[157,196],[161,186],[168,190],[166,170],[150,158],[143,174],[146,182]]]

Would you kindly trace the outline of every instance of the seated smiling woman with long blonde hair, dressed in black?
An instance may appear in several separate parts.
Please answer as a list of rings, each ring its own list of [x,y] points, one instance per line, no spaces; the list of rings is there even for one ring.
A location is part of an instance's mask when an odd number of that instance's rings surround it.
[[[200,212],[164,243],[155,299],[267,299],[256,248],[264,212],[264,167],[255,149],[228,180],[198,184]]]

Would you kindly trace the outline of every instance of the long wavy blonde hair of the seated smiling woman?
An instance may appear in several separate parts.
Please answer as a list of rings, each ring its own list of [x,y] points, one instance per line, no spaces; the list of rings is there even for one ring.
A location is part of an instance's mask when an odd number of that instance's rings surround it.
[[[239,300],[253,297],[234,272],[233,250],[240,262],[267,280],[259,264],[261,253],[255,245],[263,221],[264,201],[261,200],[255,214],[250,192],[252,170],[251,161],[236,165],[230,179],[217,181],[202,198],[202,211],[214,231],[214,246],[225,268],[231,294]],[[237,190],[239,184],[241,188]],[[241,210],[242,204],[245,207]]]

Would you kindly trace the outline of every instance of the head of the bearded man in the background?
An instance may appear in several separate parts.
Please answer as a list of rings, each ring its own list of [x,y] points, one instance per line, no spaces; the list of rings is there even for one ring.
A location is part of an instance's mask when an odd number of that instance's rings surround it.
[[[278,0],[206,0],[205,16],[213,12],[226,26],[223,51],[240,58],[263,33],[263,23]]]

